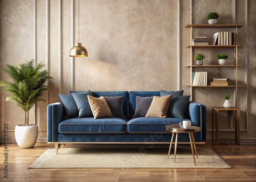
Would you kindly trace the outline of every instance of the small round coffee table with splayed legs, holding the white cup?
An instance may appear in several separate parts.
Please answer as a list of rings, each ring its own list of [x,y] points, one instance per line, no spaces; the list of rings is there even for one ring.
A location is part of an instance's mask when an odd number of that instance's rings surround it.
[[[174,152],[174,162],[175,162],[175,160],[176,160],[176,151],[177,151],[177,142],[178,142],[178,134],[181,134],[181,133],[184,134],[185,133],[185,134],[188,134],[188,136],[189,136],[191,151],[192,151],[192,155],[193,155],[193,159],[194,159],[194,164],[196,166],[196,160],[195,160],[195,156],[194,156],[194,149],[195,149],[195,153],[197,155],[197,148],[196,148],[194,133],[195,132],[200,132],[201,127],[190,126],[188,129],[185,129],[185,128],[180,127],[179,124],[170,124],[170,125],[165,126],[165,129],[168,132],[173,133],[172,139],[170,140],[170,147],[169,147],[169,152],[168,152],[168,155],[167,155],[167,159],[169,159],[170,149],[172,148],[172,144],[173,144],[173,140],[174,140],[174,134],[176,134],[175,152]],[[194,145],[194,147],[193,147],[193,145]],[[197,158],[198,158],[198,155],[197,155]]]

